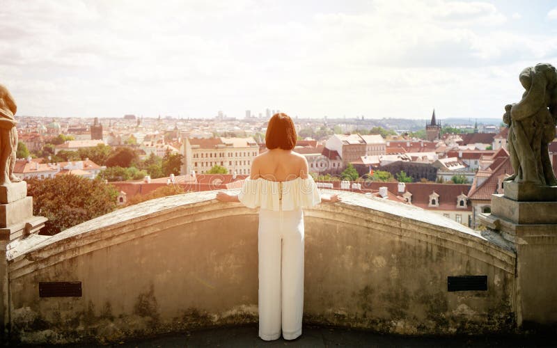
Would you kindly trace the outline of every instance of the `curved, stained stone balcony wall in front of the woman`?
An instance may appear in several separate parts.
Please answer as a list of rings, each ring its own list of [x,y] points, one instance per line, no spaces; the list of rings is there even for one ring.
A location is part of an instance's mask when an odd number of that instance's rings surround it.
[[[23,342],[111,342],[258,321],[257,209],[214,191],[120,209],[10,244],[10,322]],[[515,253],[423,209],[359,193],[304,212],[304,322],[386,333],[515,328]],[[488,290],[448,292],[447,276]],[[40,297],[81,281],[81,297]]]

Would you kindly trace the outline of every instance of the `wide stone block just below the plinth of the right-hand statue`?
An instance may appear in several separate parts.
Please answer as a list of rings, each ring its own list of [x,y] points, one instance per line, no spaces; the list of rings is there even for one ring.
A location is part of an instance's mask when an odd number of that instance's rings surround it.
[[[492,215],[518,224],[557,223],[557,202],[517,202],[492,195]]]

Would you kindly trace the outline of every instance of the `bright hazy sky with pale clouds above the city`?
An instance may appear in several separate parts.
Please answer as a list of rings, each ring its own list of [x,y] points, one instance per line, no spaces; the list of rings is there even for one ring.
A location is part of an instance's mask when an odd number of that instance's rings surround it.
[[[2,0],[17,115],[499,118],[557,1]]]

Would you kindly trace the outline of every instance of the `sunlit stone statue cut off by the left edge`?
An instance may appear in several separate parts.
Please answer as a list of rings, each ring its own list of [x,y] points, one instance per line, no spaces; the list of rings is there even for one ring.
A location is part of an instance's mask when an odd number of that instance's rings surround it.
[[[15,111],[17,106],[8,88],[0,85],[0,185],[21,181],[13,174],[17,151]]]

